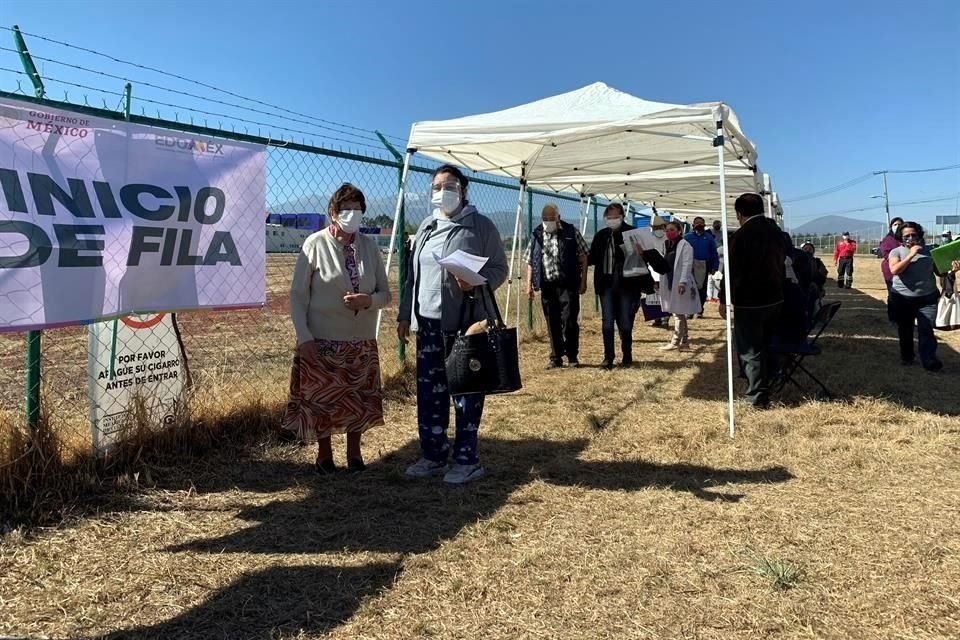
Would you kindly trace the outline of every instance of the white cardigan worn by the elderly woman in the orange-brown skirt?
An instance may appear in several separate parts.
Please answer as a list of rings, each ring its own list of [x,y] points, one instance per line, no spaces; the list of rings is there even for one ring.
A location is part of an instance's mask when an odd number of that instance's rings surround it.
[[[356,313],[343,304],[343,296],[353,293],[343,245],[328,229],[304,241],[290,286],[290,318],[297,332],[297,344],[314,339],[347,341],[376,337],[377,311],[390,304],[387,272],[373,238],[358,233],[354,247],[360,293],[371,298],[370,308]]]

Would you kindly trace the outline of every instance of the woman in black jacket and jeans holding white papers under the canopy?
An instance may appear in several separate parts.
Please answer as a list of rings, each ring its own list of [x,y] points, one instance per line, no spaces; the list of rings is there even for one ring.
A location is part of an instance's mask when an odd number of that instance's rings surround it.
[[[593,269],[593,286],[600,296],[600,313],[603,318],[604,369],[613,368],[614,326],[620,332],[622,359],[620,366],[633,364],[633,321],[640,306],[641,283],[639,278],[624,278],[623,233],[634,227],[624,222],[623,206],[607,205],[603,212],[606,226],[593,237],[590,245],[589,264]]]

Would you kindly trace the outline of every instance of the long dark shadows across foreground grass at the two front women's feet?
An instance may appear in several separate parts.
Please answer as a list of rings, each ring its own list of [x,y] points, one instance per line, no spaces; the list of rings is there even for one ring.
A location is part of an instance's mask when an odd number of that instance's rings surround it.
[[[200,494],[251,489],[263,484],[301,486],[307,495],[278,500],[240,512],[253,526],[221,537],[200,539],[168,549],[172,553],[343,554],[379,552],[408,556],[432,551],[462,529],[491,517],[530,482],[587,489],[638,491],[661,488],[701,500],[737,501],[743,493],[729,485],[786,482],[783,467],[714,469],[647,462],[590,462],[578,459],[589,443],[500,440],[482,442],[493,466],[483,481],[465,487],[439,479],[402,477],[414,459],[415,442],[370,465],[360,476],[317,477],[309,465],[252,463],[247,469],[196,484]],[[213,477],[211,477],[213,480]],[[371,596],[390,587],[402,561],[364,566],[273,567],[246,575],[207,602],[158,625],[117,632],[120,638],[256,638],[283,632],[328,631],[347,621]]]

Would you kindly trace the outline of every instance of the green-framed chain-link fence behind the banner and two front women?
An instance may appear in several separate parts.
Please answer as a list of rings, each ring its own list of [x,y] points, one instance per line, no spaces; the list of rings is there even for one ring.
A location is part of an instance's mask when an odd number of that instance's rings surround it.
[[[24,99],[10,93],[0,93],[6,99]],[[74,109],[77,113],[121,119],[117,112],[81,107],[62,102],[38,101],[33,104],[50,108]],[[197,133],[199,127],[179,122],[133,116],[134,123],[165,128],[171,132]],[[396,206],[401,167],[393,160],[374,155],[361,156],[332,151],[304,144],[276,142],[232,131],[202,128],[202,133],[224,141],[259,142],[267,149],[267,212],[262,212],[263,230],[258,233],[277,233],[282,229],[266,224],[273,213],[325,214],[330,195],[342,183],[350,182],[366,196],[369,220],[391,219]],[[61,149],[56,147],[57,152]],[[411,168],[405,199],[406,228],[413,231],[430,214],[430,174],[435,165],[417,162]],[[468,197],[481,213],[490,217],[500,230],[510,256],[513,245],[520,186],[490,176],[472,176]],[[576,196],[549,195],[528,191],[520,204],[523,207],[514,262],[514,280],[509,288],[508,323],[517,324],[522,338],[542,334],[544,324],[539,305],[523,295],[522,283],[525,265],[520,257],[530,236],[531,223],[539,224],[540,211],[547,202],[558,205],[561,215],[571,222],[584,221],[588,238],[595,230],[594,207],[585,205]],[[605,203],[598,203],[599,211]],[[602,213],[601,213],[602,215]],[[259,227],[258,227],[259,229]],[[381,246],[390,250],[389,228],[381,232]],[[90,327],[73,326],[45,330],[42,334],[0,334],[0,425],[14,425],[23,429],[28,421],[28,402],[31,397],[30,376],[41,372],[34,382],[41,385],[43,416],[57,433],[68,452],[84,454],[91,446],[91,409],[88,392],[92,383],[122,391],[126,382],[132,386],[140,377],[156,376],[164,385],[176,389],[189,388],[187,404],[154,407],[150,398],[124,400],[136,407],[134,422],[158,421],[192,423],[197,421],[224,421],[241,419],[243,411],[251,407],[280,407],[288,384],[289,367],[295,346],[293,328],[289,320],[288,292],[296,261],[296,251],[268,253],[265,256],[266,304],[258,309],[230,311],[191,311],[178,313],[175,321],[157,316],[134,317],[129,322],[103,323],[97,331]],[[386,255],[385,255],[386,257]],[[105,259],[109,259],[105,255]],[[398,357],[395,319],[398,303],[397,260],[393,260],[390,280],[393,303],[384,310],[380,333],[381,362],[385,378],[396,375],[402,368]],[[149,295],[150,288],[141,286],[139,294]],[[501,309],[507,308],[508,287],[498,291]],[[62,292],[64,295],[67,292]],[[45,300],[55,300],[57,292],[50,292]],[[96,295],[93,292],[91,295]],[[145,307],[140,307],[145,308]],[[584,315],[590,318],[594,305],[584,305]],[[134,326],[130,326],[130,322]],[[137,326],[156,323],[153,326]],[[33,349],[28,348],[28,343]],[[37,349],[37,342],[42,346]],[[178,353],[182,349],[182,354]],[[30,366],[29,356],[39,358],[39,368]],[[185,356],[181,358],[181,355]],[[92,356],[92,358],[90,357]],[[181,361],[182,360],[182,361]],[[164,377],[165,376],[165,377]],[[122,398],[122,394],[117,395]],[[117,400],[120,402],[120,400]],[[111,407],[101,407],[105,415]],[[127,417],[129,420],[129,416]],[[103,423],[110,430],[122,431],[129,424],[109,421]],[[0,451],[0,454],[3,452]],[[2,462],[2,460],[0,460]]]

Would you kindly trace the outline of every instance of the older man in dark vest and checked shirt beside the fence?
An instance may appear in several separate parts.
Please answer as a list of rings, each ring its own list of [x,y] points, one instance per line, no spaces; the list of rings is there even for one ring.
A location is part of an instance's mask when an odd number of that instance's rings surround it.
[[[580,366],[580,296],[587,292],[589,247],[580,231],[560,219],[557,205],[549,203],[540,214],[527,247],[527,295],[540,292],[543,317],[550,334],[548,369]]]

